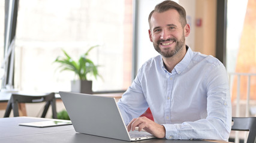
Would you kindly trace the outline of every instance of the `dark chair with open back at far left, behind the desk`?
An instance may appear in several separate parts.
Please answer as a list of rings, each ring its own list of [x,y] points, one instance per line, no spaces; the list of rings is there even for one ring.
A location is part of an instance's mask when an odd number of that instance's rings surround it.
[[[4,117],[10,116],[11,109],[13,109],[14,117],[18,117],[19,116],[18,103],[36,103],[36,102],[46,102],[46,105],[44,105],[44,111],[41,117],[46,117],[46,113],[51,104],[53,119],[57,119],[55,93],[53,92],[49,94],[41,94],[41,95],[28,95],[28,94],[19,94],[19,93],[11,94],[11,98],[8,101]]]

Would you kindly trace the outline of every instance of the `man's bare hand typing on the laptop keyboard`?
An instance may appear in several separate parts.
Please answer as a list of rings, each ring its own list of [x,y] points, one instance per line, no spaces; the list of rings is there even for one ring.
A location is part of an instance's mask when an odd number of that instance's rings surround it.
[[[164,126],[153,122],[147,117],[138,117],[138,118],[132,119],[131,122],[129,122],[129,125],[127,126],[128,132],[130,130],[134,131],[135,127],[138,127],[138,131],[141,131],[142,129],[146,130],[146,132],[151,133],[156,138],[165,137]]]

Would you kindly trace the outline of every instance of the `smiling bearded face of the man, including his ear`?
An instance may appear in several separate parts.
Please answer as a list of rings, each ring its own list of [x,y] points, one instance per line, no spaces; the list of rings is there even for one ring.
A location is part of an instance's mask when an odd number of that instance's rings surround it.
[[[185,36],[188,36],[189,32],[189,25],[182,27],[176,10],[152,14],[149,38],[155,50],[163,57],[173,57],[179,52],[185,46]]]

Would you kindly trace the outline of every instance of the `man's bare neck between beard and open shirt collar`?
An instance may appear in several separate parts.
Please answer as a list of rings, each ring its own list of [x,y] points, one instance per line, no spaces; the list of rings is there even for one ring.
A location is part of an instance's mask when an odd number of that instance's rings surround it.
[[[164,61],[166,69],[171,73],[171,71],[174,69],[174,67],[180,63],[180,61],[185,57],[186,54],[186,45],[180,49],[179,52],[177,52],[173,57],[162,57],[162,60]]]

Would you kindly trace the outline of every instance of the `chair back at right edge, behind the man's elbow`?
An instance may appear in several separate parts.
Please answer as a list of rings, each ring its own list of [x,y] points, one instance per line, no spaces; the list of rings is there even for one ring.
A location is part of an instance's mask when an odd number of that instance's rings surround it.
[[[249,131],[247,143],[256,143],[256,117],[232,117],[231,130]]]

